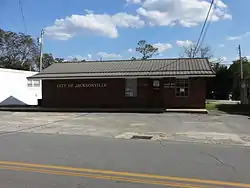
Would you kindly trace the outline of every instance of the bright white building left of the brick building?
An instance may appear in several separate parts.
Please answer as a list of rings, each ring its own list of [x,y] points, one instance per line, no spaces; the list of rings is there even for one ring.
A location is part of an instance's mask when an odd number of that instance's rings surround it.
[[[34,74],[37,72],[0,68],[0,106],[37,105],[42,97],[41,83],[27,80]]]

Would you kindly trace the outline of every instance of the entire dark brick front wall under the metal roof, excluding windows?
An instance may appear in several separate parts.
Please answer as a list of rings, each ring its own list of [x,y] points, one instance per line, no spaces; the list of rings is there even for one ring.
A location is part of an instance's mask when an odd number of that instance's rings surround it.
[[[125,97],[125,79],[44,80],[42,106],[64,108],[204,108],[205,79],[190,79],[188,97],[176,97],[174,88],[164,88],[169,79],[138,79],[137,97]],[[173,79],[175,81],[175,79]],[[95,84],[94,87],[75,87]],[[105,85],[105,87],[103,87]]]

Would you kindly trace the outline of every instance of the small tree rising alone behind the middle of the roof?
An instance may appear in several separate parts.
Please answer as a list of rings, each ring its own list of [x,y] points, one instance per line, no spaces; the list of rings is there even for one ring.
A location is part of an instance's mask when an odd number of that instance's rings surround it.
[[[136,48],[136,51],[141,53],[142,60],[149,59],[158,52],[158,48],[155,48],[153,45],[148,44],[146,40],[140,40],[137,45],[138,47]],[[136,58],[132,57],[132,60],[135,59]]]

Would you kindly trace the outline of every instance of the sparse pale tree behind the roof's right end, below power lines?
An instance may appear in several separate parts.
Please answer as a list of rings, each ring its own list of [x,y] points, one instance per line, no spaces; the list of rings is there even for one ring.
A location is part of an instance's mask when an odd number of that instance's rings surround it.
[[[202,46],[196,49],[196,44],[190,44],[183,47],[183,57],[188,58],[208,58],[213,57],[212,50],[209,46]]]

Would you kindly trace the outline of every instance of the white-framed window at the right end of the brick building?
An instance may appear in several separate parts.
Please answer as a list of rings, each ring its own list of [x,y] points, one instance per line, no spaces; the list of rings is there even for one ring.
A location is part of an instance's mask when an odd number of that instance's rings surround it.
[[[188,79],[177,79],[175,86],[175,95],[177,97],[188,97],[189,81]]]

